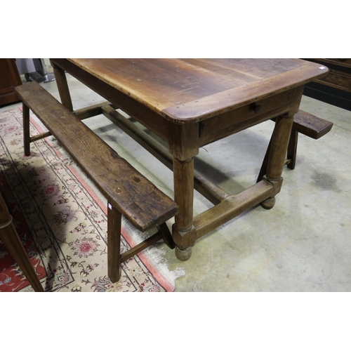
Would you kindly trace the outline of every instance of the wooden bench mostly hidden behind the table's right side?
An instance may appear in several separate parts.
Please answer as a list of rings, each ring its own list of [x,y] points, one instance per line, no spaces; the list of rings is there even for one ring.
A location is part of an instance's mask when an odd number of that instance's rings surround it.
[[[274,121],[274,119],[273,119]],[[295,169],[296,165],[296,154],[298,149],[298,133],[302,133],[312,139],[319,139],[326,133],[331,131],[333,123],[326,121],[326,119],[319,118],[310,114],[308,112],[298,110],[298,112],[293,117],[293,128],[291,130],[288,151],[286,154],[286,163],[288,168]],[[267,172],[268,156],[270,154],[272,139],[267,147],[267,152],[265,154],[265,159],[263,159],[263,164],[260,168],[260,173],[258,175],[257,181],[263,179],[265,173]]]

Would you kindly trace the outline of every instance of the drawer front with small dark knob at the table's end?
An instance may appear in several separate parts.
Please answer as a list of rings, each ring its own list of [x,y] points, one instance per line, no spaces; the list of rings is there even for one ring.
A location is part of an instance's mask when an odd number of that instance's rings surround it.
[[[258,102],[225,112],[200,123],[201,145],[212,143],[232,133],[289,111],[293,93],[284,91]]]

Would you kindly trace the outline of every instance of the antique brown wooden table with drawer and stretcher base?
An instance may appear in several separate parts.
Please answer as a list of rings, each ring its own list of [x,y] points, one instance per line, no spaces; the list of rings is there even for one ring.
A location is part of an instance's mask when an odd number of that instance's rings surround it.
[[[81,118],[102,112],[173,169],[179,212],[172,235],[180,260],[190,258],[199,237],[240,213],[257,204],[274,206],[303,87],[328,73],[298,59],[51,59],[51,64],[63,105],[73,110],[66,71],[110,102],[77,112]],[[117,108],[159,135],[168,150],[124,120]],[[199,147],[273,117],[263,180],[228,194],[194,171]],[[194,188],[214,206],[193,218]]]

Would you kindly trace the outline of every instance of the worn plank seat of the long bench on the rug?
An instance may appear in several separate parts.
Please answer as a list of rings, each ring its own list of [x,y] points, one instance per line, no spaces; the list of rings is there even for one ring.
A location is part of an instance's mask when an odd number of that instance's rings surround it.
[[[173,200],[119,157],[39,84],[25,84],[17,91],[102,194],[135,227],[150,230],[176,214],[178,208]]]

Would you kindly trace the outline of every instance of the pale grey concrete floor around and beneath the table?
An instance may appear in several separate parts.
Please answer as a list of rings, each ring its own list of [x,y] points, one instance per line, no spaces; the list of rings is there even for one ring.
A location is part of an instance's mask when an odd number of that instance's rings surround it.
[[[68,79],[74,109],[103,100]],[[42,86],[59,100],[55,81]],[[319,140],[300,135],[296,169],[284,168],[274,208],[256,206],[202,237],[186,262],[158,245],[170,270],[185,269],[176,291],[351,291],[351,112],[305,96],[300,108],[334,126]],[[173,197],[168,168],[105,117],[86,124]],[[201,148],[197,169],[228,192],[246,189],[256,183],[272,128],[267,121]],[[211,206],[195,192],[194,215]]]

